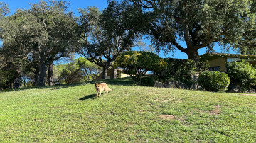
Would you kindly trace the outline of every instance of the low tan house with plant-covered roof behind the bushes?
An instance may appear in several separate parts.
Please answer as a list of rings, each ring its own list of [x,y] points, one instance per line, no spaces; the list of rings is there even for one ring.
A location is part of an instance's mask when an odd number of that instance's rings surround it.
[[[210,64],[210,71],[227,71],[227,63],[234,61],[245,60],[252,65],[256,65],[256,55],[237,55],[237,54],[223,54],[223,53],[206,53],[200,56],[203,61],[208,61]]]

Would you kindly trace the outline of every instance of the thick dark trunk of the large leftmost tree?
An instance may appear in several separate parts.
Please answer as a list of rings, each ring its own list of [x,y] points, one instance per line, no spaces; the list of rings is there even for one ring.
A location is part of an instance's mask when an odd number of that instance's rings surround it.
[[[44,58],[41,58],[40,64],[39,64],[39,84],[38,84],[38,86],[45,86],[46,71],[47,71],[46,60]]]

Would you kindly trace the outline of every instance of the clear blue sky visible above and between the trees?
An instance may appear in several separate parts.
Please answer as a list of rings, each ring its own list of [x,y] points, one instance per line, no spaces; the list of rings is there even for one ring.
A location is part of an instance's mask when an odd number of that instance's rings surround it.
[[[0,0],[9,5],[10,14],[15,13],[16,9],[28,9],[30,8],[30,4],[38,3],[40,0]],[[68,1],[68,0],[67,0]],[[107,8],[107,0],[69,0],[70,2],[70,11],[73,11],[76,16],[78,14],[78,8],[87,8],[87,6],[97,6],[100,10]],[[150,42],[146,42],[147,45],[150,45]],[[1,41],[0,41],[1,45]],[[181,42],[181,46],[186,47],[184,42]],[[206,52],[206,48],[198,50],[199,55],[202,55]],[[220,47],[215,47],[215,52],[225,52],[220,50]],[[235,52],[232,52],[235,53]],[[187,59],[187,55],[179,50],[176,50],[174,53],[169,53],[168,55],[164,55],[163,52],[159,53],[160,57],[172,57],[178,59]],[[76,56],[78,57],[78,56]]]

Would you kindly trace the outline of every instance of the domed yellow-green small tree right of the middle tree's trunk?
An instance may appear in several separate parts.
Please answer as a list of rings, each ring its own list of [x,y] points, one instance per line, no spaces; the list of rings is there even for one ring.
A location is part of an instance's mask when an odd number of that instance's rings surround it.
[[[129,51],[117,57],[114,67],[121,67],[134,79],[140,79],[147,71],[154,73],[166,68],[166,62],[158,55],[151,52]]]

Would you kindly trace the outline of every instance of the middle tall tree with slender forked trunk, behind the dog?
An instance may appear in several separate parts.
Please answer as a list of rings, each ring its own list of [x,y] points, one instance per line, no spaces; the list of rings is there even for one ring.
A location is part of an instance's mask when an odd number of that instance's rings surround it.
[[[131,50],[137,38],[137,27],[130,25],[137,12],[134,6],[110,1],[101,13],[96,7],[80,9],[81,47],[78,53],[103,68],[102,79],[107,78],[107,69],[122,52]]]

